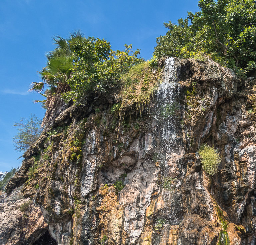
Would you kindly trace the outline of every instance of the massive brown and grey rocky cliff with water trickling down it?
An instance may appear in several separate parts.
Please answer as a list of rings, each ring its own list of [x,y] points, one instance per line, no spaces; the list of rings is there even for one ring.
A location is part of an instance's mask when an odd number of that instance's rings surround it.
[[[25,153],[0,244],[256,244],[256,79],[165,58],[126,92],[69,107]]]

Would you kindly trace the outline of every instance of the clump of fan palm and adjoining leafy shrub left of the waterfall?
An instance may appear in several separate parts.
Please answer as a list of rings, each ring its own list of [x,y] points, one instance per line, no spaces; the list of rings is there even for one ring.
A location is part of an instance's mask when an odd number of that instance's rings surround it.
[[[36,101],[49,111],[43,122],[55,118],[65,107],[64,101],[83,103],[90,93],[119,86],[121,74],[144,61],[137,57],[139,50],[132,51],[132,45],[113,51],[106,40],[84,37],[80,31],[71,33],[68,39],[55,36],[53,40],[57,47],[48,53],[47,65],[39,72],[42,82],[32,83],[30,89],[42,92],[47,85],[42,94],[46,99]]]

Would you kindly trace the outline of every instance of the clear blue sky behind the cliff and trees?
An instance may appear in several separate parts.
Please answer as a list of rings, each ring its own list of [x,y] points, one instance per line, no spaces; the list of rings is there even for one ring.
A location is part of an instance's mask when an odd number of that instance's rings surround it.
[[[141,49],[148,60],[156,37],[167,29],[163,22],[177,22],[187,11],[198,11],[196,0],[1,0],[0,2],[0,171],[21,164],[14,151],[14,122],[30,114],[43,118],[44,110],[32,101],[41,95],[27,92],[37,71],[45,66],[45,54],[54,49],[52,37],[67,38],[80,29],[85,36],[104,38],[113,50],[124,44]]]

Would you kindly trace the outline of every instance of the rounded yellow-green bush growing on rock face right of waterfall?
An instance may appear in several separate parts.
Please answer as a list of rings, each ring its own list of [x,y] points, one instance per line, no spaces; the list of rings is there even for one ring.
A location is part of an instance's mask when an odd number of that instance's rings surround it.
[[[218,172],[218,168],[221,162],[219,153],[206,144],[203,144],[198,151],[201,157],[202,167],[209,175],[214,175]]]

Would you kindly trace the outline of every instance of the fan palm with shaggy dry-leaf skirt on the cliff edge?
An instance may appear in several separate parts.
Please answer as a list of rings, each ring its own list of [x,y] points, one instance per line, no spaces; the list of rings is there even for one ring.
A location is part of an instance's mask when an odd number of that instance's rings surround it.
[[[46,109],[42,126],[50,126],[53,120],[68,107],[60,96],[70,91],[68,79],[72,76],[71,68],[75,56],[70,49],[69,42],[81,38],[82,33],[80,31],[71,33],[69,40],[60,36],[53,37],[57,47],[54,51],[47,54],[46,67],[38,72],[42,81],[31,84],[29,91],[39,92],[46,97],[44,100],[35,100],[35,102],[42,102],[43,108]],[[45,85],[47,88],[44,93],[41,93]]]

